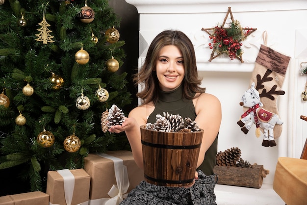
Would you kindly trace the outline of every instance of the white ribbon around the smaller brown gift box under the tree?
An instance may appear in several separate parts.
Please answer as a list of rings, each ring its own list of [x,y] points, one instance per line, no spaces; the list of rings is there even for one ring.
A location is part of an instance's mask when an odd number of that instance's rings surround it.
[[[66,205],[71,205],[73,201],[73,194],[75,188],[75,177],[69,169],[57,170],[57,172],[63,177],[64,196],[65,196]],[[57,204],[49,203],[49,205],[57,205]],[[88,205],[88,201],[78,205]]]

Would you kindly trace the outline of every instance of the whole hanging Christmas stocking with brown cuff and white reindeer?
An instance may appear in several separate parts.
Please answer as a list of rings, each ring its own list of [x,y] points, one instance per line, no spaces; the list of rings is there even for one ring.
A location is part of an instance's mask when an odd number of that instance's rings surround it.
[[[255,123],[256,136],[260,136],[260,130],[263,132],[264,147],[276,146],[275,140],[281,136],[282,122],[276,101],[285,94],[281,87],[289,61],[289,56],[261,45],[250,80],[251,89],[244,93],[240,103],[244,114],[238,125],[247,134]]]

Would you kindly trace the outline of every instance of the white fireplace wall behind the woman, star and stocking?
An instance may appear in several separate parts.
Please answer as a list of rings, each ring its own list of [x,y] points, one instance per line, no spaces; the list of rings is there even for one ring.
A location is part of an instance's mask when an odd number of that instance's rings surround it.
[[[306,103],[301,101],[306,76],[299,74],[300,63],[307,61],[307,1],[306,0],[126,0],[140,14],[139,66],[154,36],[165,29],[185,32],[195,45],[197,63],[203,86],[217,96],[223,109],[218,151],[238,147],[242,158],[262,164],[270,174],[263,183],[272,183],[279,156],[300,157],[306,140],[307,122],[299,119],[307,115]],[[243,60],[218,57],[208,62],[211,51],[209,35],[202,31],[222,24],[231,7],[234,20],[242,27],[257,30],[243,43]],[[230,16],[229,16],[230,17]],[[227,21],[229,22],[230,19]],[[267,46],[291,57],[278,107],[283,120],[281,137],[276,147],[262,147],[262,136],[256,138],[255,126],[245,135],[236,124],[243,109],[241,97],[248,89],[263,33]],[[306,50],[306,51],[305,51]],[[306,125],[305,125],[306,124]]]

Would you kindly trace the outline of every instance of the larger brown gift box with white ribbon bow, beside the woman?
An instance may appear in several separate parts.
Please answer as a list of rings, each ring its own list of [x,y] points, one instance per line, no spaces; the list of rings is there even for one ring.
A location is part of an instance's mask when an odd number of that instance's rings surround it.
[[[91,176],[90,205],[102,205],[114,200],[114,205],[144,180],[129,151],[89,154],[84,158],[84,170]]]

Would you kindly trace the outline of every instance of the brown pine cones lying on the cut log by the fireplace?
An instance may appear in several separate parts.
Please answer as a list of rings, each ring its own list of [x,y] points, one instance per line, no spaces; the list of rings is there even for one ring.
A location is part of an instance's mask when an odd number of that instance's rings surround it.
[[[216,166],[237,166],[237,167],[247,167],[253,168],[248,161],[244,161],[241,158],[241,150],[239,148],[230,148],[224,152],[219,152],[216,154]]]

